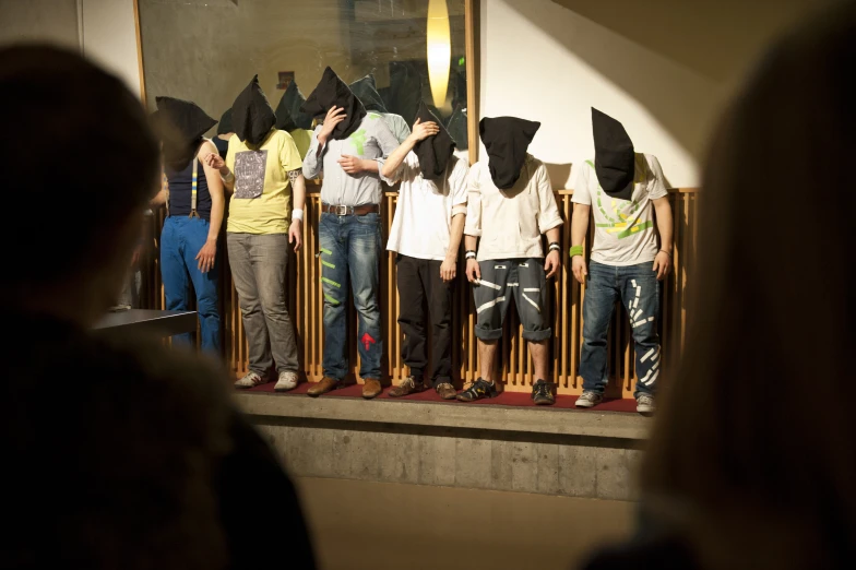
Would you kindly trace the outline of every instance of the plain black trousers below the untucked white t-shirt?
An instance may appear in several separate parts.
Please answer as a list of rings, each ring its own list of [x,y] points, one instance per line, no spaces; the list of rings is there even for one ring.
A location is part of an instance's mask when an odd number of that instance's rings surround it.
[[[426,355],[427,300],[431,316],[431,383],[452,382],[452,283],[440,277],[442,261],[399,256],[399,324],[404,332],[402,358],[411,373],[423,380],[428,367]]]

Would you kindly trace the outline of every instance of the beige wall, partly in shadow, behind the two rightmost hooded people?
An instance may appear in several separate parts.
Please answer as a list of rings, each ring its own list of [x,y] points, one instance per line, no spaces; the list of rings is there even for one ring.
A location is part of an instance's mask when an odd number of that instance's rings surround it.
[[[573,186],[592,106],[622,121],[673,186],[699,183],[711,127],[783,27],[825,0],[482,0],[483,116],[542,121],[533,154]]]

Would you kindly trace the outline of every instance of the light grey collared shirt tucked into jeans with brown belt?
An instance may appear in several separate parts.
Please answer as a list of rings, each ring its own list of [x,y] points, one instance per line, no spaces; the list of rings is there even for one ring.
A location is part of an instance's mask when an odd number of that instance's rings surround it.
[[[376,173],[360,173],[356,176],[342,169],[338,159],[355,156],[378,161],[378,169],[383,168],[383,159],[399,147],[399,141],[390,132],[387,122],[378,112],[369,112],[350,136],[345,140],[329,140],[319,152],[317,127],[312,144],[304,159],[304,176],[318,178],[324,174],[321,187],[321,202],[333,205],[357,206],[379,204],[381,200],[380,176]]]

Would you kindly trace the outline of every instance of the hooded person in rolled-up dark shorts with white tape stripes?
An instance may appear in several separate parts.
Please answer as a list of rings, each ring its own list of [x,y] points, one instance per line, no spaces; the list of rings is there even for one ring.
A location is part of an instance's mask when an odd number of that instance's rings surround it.
[[[512,298],[535,364],[532,399],[537,405],[556,401],[555,384],[546,380],[547,342],[552,336],[547,278],[561,269],[562,218],[547,167],[526,152],[539,128],[539,122],[515,117],[484,118],[479,123],[488,161],[469,169],[464,234],[466,276],[473,283],[478,361],[484,376],[457,395],[462,402],[497,395],[497,344]],[[549,241],[546,259],[544,234]]]

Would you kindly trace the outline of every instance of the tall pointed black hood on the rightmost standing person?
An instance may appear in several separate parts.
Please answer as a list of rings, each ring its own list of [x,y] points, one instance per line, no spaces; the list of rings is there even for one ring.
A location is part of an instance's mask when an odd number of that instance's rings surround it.
[[[619,200],[633,195],[635,152],[623,126],[592,107],[594,169],[604,192]]]

